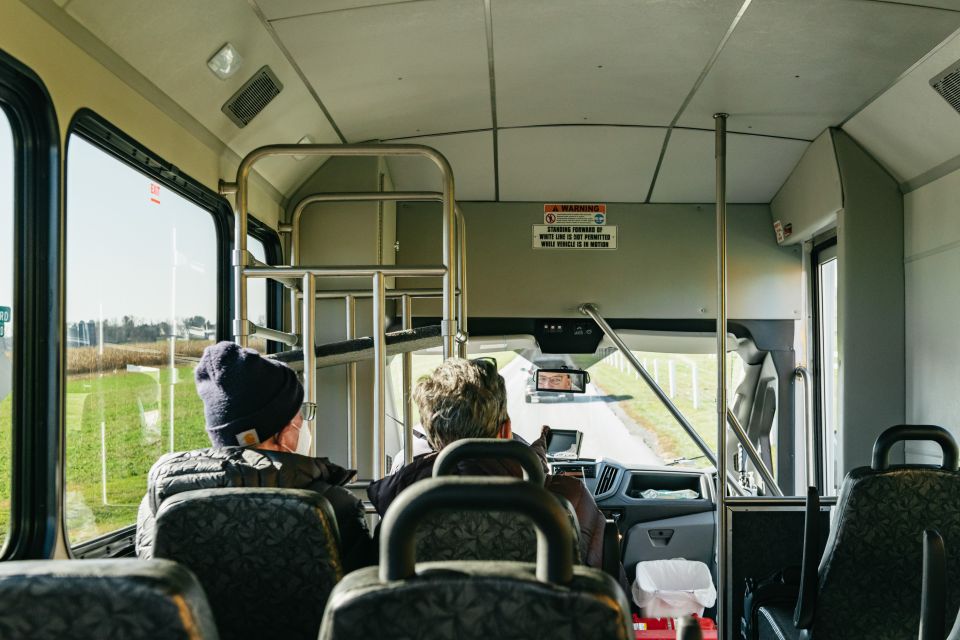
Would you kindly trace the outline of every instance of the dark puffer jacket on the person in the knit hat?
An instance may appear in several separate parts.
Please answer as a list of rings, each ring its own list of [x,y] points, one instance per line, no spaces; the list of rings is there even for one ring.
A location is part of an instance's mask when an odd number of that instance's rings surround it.
[[[152,557],[157,509],[166,498],[195,489],[275,487],[309,489],[325,497],[337,517],[344,571],[367,566],[374,556],[363,504],[341,486],[355,473],[327,458],[244,447],[168,453],[147,477],[147,493],[137,514],[137,556]]]

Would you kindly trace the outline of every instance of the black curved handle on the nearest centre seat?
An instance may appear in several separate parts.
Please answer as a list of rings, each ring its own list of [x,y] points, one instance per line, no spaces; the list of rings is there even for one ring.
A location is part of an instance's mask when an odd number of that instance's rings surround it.
[[[381,580],[416,575],[417,526],[443,509],[522,513],[537,530],[537,579],[561,585],[573,580],[573,534],[560,503],[543,487],[499,476],[429,478],[401,492],[381,524]]]

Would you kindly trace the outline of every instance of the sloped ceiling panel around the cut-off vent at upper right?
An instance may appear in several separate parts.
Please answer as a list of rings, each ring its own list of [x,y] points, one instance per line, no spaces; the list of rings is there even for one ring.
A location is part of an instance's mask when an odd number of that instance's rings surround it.
[[[900,182],[960,155],[960,113],[930,86],[930,78],[958,59],[960,37],[843,126]]]

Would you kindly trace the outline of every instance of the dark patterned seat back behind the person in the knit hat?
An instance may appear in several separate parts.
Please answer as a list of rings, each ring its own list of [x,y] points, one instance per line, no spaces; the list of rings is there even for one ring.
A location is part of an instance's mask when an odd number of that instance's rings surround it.
[[[220,636],[310,638],[343,577],[329,502],[302,489],[204,489],[157,512],[154,556],[199,578]]]

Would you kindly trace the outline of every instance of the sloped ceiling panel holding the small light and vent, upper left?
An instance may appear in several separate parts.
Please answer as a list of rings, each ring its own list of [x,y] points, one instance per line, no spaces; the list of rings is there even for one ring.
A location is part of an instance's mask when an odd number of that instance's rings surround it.
[[[240,10],[238,10],[240,6]],[[67,13],[121,55],[196,118],[234,152],[243,156],[265,144],[338,142],[323,111],[289,65],[260,20],[235,0],[72,0]],[[224,42],[243,58],[240,71],[220,80],[207,68]],[[220,107],[260,67],[269,65],[283,91],[245,128],[234,125]],[[316,169],[315,160],[275,159],[257,171],[286,192]]]

